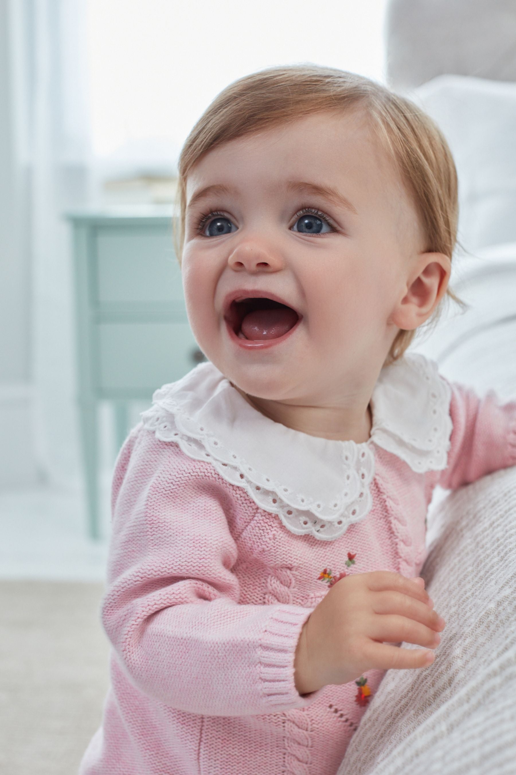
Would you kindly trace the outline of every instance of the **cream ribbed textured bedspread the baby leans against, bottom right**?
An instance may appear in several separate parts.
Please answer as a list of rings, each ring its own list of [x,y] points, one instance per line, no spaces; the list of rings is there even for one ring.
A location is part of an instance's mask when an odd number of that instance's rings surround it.
[[[422,576],[446,619],[436,660],[388,670],[337,775],[516,771],[516,468],[455,491],[432,518]]]

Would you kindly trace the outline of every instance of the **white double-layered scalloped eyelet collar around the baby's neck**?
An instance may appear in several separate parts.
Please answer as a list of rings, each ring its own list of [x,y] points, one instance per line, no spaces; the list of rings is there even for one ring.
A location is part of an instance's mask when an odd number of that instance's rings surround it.
[[[201,392],[196,407],[191,397],[197,396],[197,390]],[[198,422],[193,415],[199,413],[203,401],[210,400],[203,397],[204,394],[217,394],[218,398],[224,394],[226,399],[229,396],[229,404],[210,404],[210,412],[205,413],[202,422]],[[411,400],[407,401],[408,397]],[[382,369],[371,397],[373,427],[370,439],[365,443],[334,443],[337,452],[331,470],[338,487],[330,496],[317,493],[316,488],[312,496],[306,491],[302,492],[302,483],[306,481],[302,476],[298,477],[299,484],[294,483],[296,487],[286,486],[285,482],[273,479],[270,470],[267,473],[257,470],[238,453],[238,437],[226,434],[229,443],[222,442],[220,436],[224,436],[225,425],[220,425],[218,437],[207,427],[207,418],[211,416],[214,420],[218,417],[220,424],[220,417],[226,417],[226,412],[231,414],[235,407],[240,422],[251,422],[251,425],[255,422],[249,415],[244,415],[246,419],[242,420],[241,412],[249,411],[258,415],[260,422],[264,421],[263,416],[248,407],[212,363],[202,363],[183,380],[163,385],[155,391],[152,399],[152,407],[141,413],[146,429],[154,432],[161,441],[177,443],[186,455],[210,462],[221,477],[243,487],[260,508],[279,515],[285,528],[296,535],[308,533],[317,539],[331,541],[343,535],[349,525],[359,522],[370,512],[370,484],[374,477],[372,443],[395,454],[418,473],[443,470],[446,467],[452,431],[449,417],[451,389],[439,376],[436,363],[417,353],[405,355],[402,360]],[[191,412],[189,405],[192,406]],[[214,411],[218,415],[214,415]],[[268,425],[266,431],[258,429],[258,439],[260,433],[270,434],[276,425],[279,424]],[[284,426],[281,428],[283,433]],[[231,448],[233,441],[234,448]],[[249,447],[249,451],[253,452],[253,449]],[[262,463],[260,468],[264,469],[265,464]],[[275,470],[282,475],[280,459]],[[320,500],[313,497],[314,492]]]

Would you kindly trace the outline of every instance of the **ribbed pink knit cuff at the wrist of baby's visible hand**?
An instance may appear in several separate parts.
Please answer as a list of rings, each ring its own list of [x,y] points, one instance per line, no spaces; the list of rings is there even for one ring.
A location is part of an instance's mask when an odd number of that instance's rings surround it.
[[[313,608],[298,605],[272,606],[272,614],[261,638],[258,668],[265,704],[270,712],[311,705],[323,691],[301,696],[294,684],[294,658],[302,626]]]

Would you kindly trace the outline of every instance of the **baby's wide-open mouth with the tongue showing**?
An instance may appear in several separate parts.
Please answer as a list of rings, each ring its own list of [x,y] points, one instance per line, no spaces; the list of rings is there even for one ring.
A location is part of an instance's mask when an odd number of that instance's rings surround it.
[[[232,301],[226,316],[239,339],[279,339],[296,325],[295,309],[272,298],[244,298]]]

